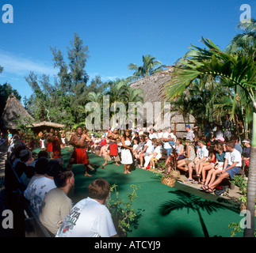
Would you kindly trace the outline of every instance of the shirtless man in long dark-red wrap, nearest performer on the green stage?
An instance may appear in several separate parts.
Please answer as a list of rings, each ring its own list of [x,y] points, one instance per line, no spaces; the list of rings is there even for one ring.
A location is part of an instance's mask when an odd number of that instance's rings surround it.
[[[82,133],[82,127],[76,128],[76,133],[72,135],[70,144],[74,146],[74,151],[71,155],[71,159],[67,164],[67,168],[72,168],[73,164],[85,164],[85,176],[91,176],[88,173],[89,157],[86,153],[86,142],[91,142],[92,139],[88,134]]]

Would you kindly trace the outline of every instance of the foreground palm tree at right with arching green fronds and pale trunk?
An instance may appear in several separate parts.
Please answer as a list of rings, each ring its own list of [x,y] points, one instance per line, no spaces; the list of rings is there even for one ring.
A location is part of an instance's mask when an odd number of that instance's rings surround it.
[[[211,40],[202,38],[207,49],[193,46],[193,56],[185,59],[175,68],[174,77],[163,85],[166,98],[173,100],[193,84],[193,80],[204,75],[217,77],[219,85],[234,89],[239,86],[254,105],[253,134],[251,139],[250,168],[247,189],[246,210],[254,214],[256,195],[256,66],[253,55],[231,54],[221,51]],[[235,104],[233,104],[235,107]],[[244,236],[254,236],[254,218],[250,219],[250,228],[245,229]]]

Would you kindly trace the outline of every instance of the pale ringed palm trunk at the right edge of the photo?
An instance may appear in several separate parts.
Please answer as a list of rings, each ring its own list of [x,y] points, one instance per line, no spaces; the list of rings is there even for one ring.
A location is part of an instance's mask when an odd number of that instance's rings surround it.
[[[253,116],[253,136],[250,145],[250,166],[248,175],[246,210],[250,211],[250,228],[245,228],[244,237],[254,237],[254,211],[256,196],[256,109]]]

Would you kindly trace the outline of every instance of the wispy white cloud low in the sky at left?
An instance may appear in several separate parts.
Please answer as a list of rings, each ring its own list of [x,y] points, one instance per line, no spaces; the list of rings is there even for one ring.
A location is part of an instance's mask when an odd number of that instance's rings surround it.
[[[4,73],[15,75],[27,75],[30,71],[35,74],[49,74],[51,76],[56,74],[53,66],[47,66],[44,62],[39,60],[29,59],[29,57],[21,55],[13,55],[7,51],[0,51],[0,66],[3,66]]]

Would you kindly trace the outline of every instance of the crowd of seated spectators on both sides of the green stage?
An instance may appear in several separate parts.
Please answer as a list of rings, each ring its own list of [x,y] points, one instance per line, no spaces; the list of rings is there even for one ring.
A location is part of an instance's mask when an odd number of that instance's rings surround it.
[[[155,164],[163,160],[164,165],[159,170],[168,174],[172,169],[170,160],[177,157],[177,168],[185,173],[185,181],[201,184],[202,191],[211,193],[224,179],[232,178],[250,163],[250,140],[243,139],[242,147],[239,138],[230,134],[228,127],[227,124],[227,129],[221,130],[216,126],[211,133],[208,126],[201,131],[197,125],[193,129],[186,125],[184,138],[178,138],[171,127],[146,131],[136,126],[127,135],[131,139],[132,163],[141,169],[154,169]],[[102,157],[108,155],[107,137],[111,132],[105,130],[101,138],[91,134],[88,152]],[[100,179],[92,183],[90,196],[72,206],[67,194],[75,185],[74,174],[71,169],[64,168],[62,158],[48,159],[48,152],[42,150],[34,159],[32,151],[17,136],[9,145],[10,167],[25,183],[25,198],[52,236],[82,236],[83,233],[87,236],[117,236],[111,215],[104,206],[110,191],[108,182]],[[122,142],[117,142],[117,146],[121,157]],[[92,213],[91,219],[88,213]],[[103,220],[94,224],[94,232],[88,227],[83,228],[84,222],[93,223],[98,217]]]

